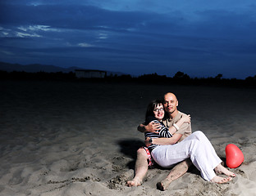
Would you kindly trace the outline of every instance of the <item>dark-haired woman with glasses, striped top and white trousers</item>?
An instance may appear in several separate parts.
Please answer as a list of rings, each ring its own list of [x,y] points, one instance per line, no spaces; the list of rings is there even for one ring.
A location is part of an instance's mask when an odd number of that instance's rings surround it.
[[[159,114],[159,111],[163,114]],[[162,122],[164,110],[161,101],[153,101],[149,104],[146,113],[146,122],[150,119],[156,118],[159,122]],[[154,119],[155,120],[155,119]],[[181,122],[177,122],[175,127],[179,127],[178,123],[188,122],[189,119],[182,119]],[[163,125],[161,125],[163,126]],[[166,127],[162,127],[162,132],[165,131],[166,136],[173,134],[175,130],[168,130]],[[163,133],[158,134],[146,132],[146,137],[161,137]],[[186,158],[190,158],[195,167],[201,172],[201,176],[204,180],[208,180],[215,183],[226,183],[235,177],[235,174],[228,171],[221,165],[222,160],[219,158],[213,149],[213,145],[210,143],[208,138],[203,134],[202,131],[195,131],[190,136],[186,137],[180,143],[175,145],[149,145],[149,150],[153,157],[153,160],[158,163],[159,166],[169,168],[174,164],[179,163]],[[217,176],[216,173],[225,174],[226,178]]]

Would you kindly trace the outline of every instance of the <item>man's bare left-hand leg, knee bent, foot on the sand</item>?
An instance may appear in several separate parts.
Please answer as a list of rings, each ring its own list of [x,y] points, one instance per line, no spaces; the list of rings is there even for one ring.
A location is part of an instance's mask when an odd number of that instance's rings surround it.
[[[127,181],[128,186],[138,186],[142,184],[144,176],[148,171],[148,154],[146,150],[141,148],[137,150],[137,159],[135,163],[135,177],[133,180]]]

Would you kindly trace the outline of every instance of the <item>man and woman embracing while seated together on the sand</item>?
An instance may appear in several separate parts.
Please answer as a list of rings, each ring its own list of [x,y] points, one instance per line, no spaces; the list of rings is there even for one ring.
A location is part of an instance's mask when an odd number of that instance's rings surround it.
[[[177,110],[176,96],[168,92],[163,101],[153,100],[147,109],[144,124],[138,130],[144,132],[145,145],[137,151],[135,177],[128,186],[142,184],[153,161],[164,168],[173,167],[165,180],[158,182],[158,189],[167,189],[172,180],[184,175],[193,163],[204,180],[226,183],[235,174],[222,166],[222,160],[202,131],[191,133],[190,115]],[[177,164],[178,163],[178,164]],[[227,177],[217,176],[222,173]]]

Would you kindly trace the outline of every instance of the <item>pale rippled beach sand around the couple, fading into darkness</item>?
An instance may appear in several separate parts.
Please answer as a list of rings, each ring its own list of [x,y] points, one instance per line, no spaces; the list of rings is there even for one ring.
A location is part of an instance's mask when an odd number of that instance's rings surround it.
[[[256,89],[104,82],[0,82],[0,195],[256,195]],[[203,180],[190,169],[165,191],[169,170],[153,168],[144,184],[134,176],[150,100],[173,91],[225,162],[237,145],[245,162],[229,184]]]

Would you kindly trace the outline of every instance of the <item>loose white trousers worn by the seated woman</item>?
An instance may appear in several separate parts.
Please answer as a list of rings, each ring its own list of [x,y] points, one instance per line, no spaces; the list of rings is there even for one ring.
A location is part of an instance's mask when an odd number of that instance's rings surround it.
[[[195,131],[175,145],[158,145],[151,155],[159,166],[166,168],[190,158],[201,172],[203,179],[208,181],[216,176],[213,169],[222,163],[213,145],[202,131]]]

